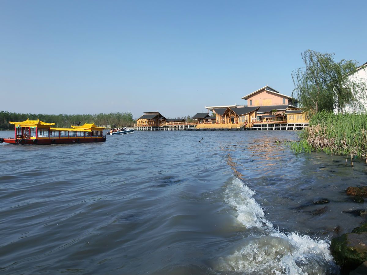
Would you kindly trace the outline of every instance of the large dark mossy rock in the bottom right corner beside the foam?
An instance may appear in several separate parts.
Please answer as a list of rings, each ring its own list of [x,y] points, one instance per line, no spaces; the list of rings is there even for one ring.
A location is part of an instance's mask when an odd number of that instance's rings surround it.
[[[367,261],[367,232],[347,233],[334,238],[330,251],[342,274],[349,274],[350,270]]]

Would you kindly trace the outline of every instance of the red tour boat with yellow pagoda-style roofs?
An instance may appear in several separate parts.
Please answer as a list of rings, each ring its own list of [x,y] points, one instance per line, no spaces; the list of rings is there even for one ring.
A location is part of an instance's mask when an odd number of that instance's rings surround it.
[[[0,143],[12,144],[63,144],[103,142],[103,127],[94,123],[85,123],[82,126],[71,126],[72,128],[52,127],[55,123],[46,123],[37,120],[25,120],[22,122],[9,122],[15,126],[14,138],[0,138]]]

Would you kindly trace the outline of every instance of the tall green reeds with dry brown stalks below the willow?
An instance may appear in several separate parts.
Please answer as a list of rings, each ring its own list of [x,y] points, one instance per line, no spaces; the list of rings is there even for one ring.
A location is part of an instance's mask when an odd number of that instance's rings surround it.
[[[352,166],[353,157],[367,163],[367,114],[318,112],[300,137],[311,150],[350,156]]]

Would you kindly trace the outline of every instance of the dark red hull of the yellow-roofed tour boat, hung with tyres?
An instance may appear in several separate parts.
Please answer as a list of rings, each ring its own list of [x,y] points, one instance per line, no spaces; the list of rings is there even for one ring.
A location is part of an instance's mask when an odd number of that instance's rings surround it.
[[[25,145],[25,144],[66,144],[66,143],[86,143],[86,142],[104,142],[106,137],[92,138],[54,138],[54,139],[27,139],[27,138],[4,138],[4,142]]]

